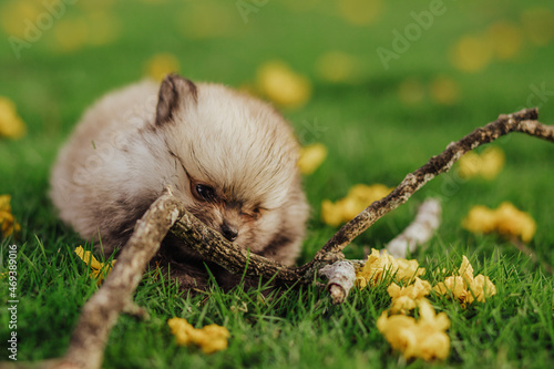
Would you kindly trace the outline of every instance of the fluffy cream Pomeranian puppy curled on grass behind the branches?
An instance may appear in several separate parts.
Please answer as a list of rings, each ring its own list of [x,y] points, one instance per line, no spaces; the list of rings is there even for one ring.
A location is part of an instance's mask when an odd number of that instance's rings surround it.
[[[298,155],[293,129],[269,104],[170,74],[85,112],[53,166],[51,197],[61,219],[109,256],[171,186],[229,242],[291,265],[309,213]],[[225,289],[238,280],[171,234],[154,260],[184,289],[205,288],[206,267]]]

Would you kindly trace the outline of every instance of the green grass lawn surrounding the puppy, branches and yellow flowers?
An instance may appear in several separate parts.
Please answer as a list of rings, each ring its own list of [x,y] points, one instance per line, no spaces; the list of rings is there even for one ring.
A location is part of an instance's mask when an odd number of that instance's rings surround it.
[[[0,4],[0,14],[4,13],[1,7],[11,2]],[[175,54],[182,74],[193,80],[239,86],[254,81],[256,68],[274,59],[285,60],[311,80],[309,103],[284,110],[299,133],[306,130],[306,122],[317,121],[324,130],[308,139],[329,148],[324,165],[305,178],[312,217],[299,263],[308,260],[336,232],[319,221],[324,198],[340,198],[356,183],[396,186],[450,142],[500,113],[525,106],[532,85],[544,83],[546,91],[554,91],[552,40],[538,47],[524,39],[516,57],[494,60],[476,73],[455,70],[449,59],[461,37],[482,34],[497,21],[520,24],[523,10],[546,7],[540,1],[444,1],[447,12],[437,17],[399,60],[391,61],[388,70],[376,49],[390,48],[391,31],[403,30],[412,22],[410,12],[429,9],[429,1],[387,1],[383,12],[369,25],[347,22],[337,14],[334,1],[306,1],[296,8],[291,0],[269,1],[249,14],[248,23],[243,22],[235,2],[219,1],[204,11],[212,23],[225,29],[202,39],[191,33],[192,21],[198,17],[193,2],[110,3],[68,7],[52,29],[22,50],[19,60],[7,42],[0,48],[0,95],[16,102],[29,130],[22,140],[0,140],[0,194],[12,196],[13,213],[22,225],[19,239],[0,240],[0,271],[8,265],[8,246],[19,247],[18,362],[63,355],[82,306],[96,290],[86,267],[73,254],[79,245],[91,246],[61,224],[48,198],[49,171],[57,151],[89,104],[111,89],[141,79],[145,62],[155,53]],[[94,11],[91,8],[114,17],[119,37],[103,45],[57,51],[55,28],[86,17]],[[1,30],[0,35],[4,39],[8,33]],[[356,82],[331,83],[317,73],[316,60],[330,50],[358,58],[361,66]],[[460,98],[453,105],[441,105],[430,98],[429,84],[438,74],[459,85]],[[423,99],[414,104],[402,103],[398,95],[407,79],[424,88]],[[542,103],[541,121],[554,124],[552,92],[546,101],[534,101]],[[552,367],[552,275],[502,238],[472,235],[460,223],[475,204],[496,207],[510,201],[535,218],[537,233],[529,246],[541,260],[554,265],[554,145],[524,135],[502,139],[496,145],[505,152],[506,164],[494,181],[461,181],[454,167],[346,250],[348,257],[361,258],[365,247],[382,247],[410,223],[423,198],[442,199],[441,227],[412,257],[428,270],[447,268],[451,273],[466,255],[475,273],[488,275],[497,288],[497,295],[485,304],[465,309],[448,299],[431,298],[435,309],[445,311],[452,321],[448,332],[452,345],[445,361],[407,362],[390,349],[376,328],[377,318],[390,304],[383,286],[355,290],[343,305],[332,306],[326,294],[315,288],[284,291],[263,300],[259,290],[223,294],[214,286],[206,295],[189,297],[150,271],[135,299],[152,319],[121,317],[110,337],[104,367]],[[427,277],[433,281],[430,271]],[[8,283],[0,281],[0,306],[7,304],[8,293]],[[195,348],[177,347],[166,325],[175,316],[196,327],[213,322],[226,326],[229,348],[206,356]],[[1,342],[10,335],[8,325],[9,315],[1,308]],[[1,346],[0,361],[8,359],[6,344]]]

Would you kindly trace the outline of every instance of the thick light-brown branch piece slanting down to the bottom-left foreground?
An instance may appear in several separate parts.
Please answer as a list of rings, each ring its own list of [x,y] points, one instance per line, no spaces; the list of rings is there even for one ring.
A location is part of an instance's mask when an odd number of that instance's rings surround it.
[[[136,223],[135,230],[122,249],[117,263],[98,293],[84,305],[71,337],[70,348],[51,367],[100,368],[112,327],[123,311],[137,308],[132,298],[148,262],[160,249],[168,229],[177,221],[183,206],[170,189],[156,199]]]

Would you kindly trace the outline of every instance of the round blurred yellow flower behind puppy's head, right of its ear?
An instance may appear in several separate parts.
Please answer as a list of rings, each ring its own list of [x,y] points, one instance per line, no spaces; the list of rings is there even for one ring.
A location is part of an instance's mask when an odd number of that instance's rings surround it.
[[[263,64],[256,74],[258,90],[278,105],[301,106],[311,95],[310,81],[281,61]]]

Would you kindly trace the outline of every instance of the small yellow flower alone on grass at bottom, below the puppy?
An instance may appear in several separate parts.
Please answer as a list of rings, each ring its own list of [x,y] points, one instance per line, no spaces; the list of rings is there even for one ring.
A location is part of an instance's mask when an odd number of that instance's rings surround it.
[[[167,320],[172,334],[177,340],[177,345],[188,346],[191,344],[199,346],[204,353],[225,350],[229,331],[218,325],[209,325],[202,329],[195,329],[186,319],[172,318]]]

